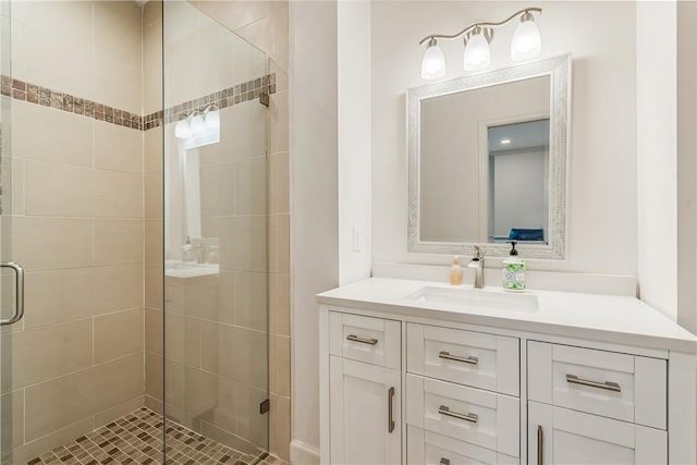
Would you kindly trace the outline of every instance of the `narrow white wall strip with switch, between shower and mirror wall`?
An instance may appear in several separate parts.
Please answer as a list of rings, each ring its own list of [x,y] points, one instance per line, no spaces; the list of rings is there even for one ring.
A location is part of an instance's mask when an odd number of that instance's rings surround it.
[[[370,2],[339,0],[338,35],[339,282],[348,284],[371,265]]]

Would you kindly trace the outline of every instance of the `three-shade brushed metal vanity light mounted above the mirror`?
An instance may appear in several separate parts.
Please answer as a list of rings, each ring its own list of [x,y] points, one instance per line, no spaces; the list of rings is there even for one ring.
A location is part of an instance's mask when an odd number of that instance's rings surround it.
[[[445,76],[445,57],[438,46],[438,39],[453,40],[464,37],[465,52],[463,68],[465,71],[476,71],[487,68],[491,61],[489,44],[493,39],[493,29],[511,23],[516,17],[521,19],[513,40],[511,41],[511,59],[514,61],[529,60],[537,57],[542,50],[540,32],[535,24],[533,13],[542,13],[541,8],[526,8],[499,23],[475,23],[462,29],[457,34],[431,34],[419,41],[419,45],[428,42],[424,59],[421,60],[421,78],[426,81],[440,79]]]

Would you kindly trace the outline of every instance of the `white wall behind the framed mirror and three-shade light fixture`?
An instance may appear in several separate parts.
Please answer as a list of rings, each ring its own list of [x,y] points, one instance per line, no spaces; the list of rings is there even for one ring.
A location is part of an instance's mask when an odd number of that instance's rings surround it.
[[[566,261],[534,269],[636,273],[636,72],[634,2],[538,2],[541,58],[573,53],[572,154]],[[447,264],[406,253],[404,91],[424,85],[418,41],[475,21],[498,21],[518,2],[372,3],[374,261]],[[511,65],[514,26],[498,29],[491,69]],[[448,78],[463,75],[462,42],[442,44]],[[498,266],[497,260],[487,260]],[[500,262],[500,261],[499,261]]]

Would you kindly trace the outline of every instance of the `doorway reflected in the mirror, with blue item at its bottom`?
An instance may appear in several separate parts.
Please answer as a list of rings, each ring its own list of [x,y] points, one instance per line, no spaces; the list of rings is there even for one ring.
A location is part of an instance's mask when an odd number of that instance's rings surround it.
[[[545,243],[549,119],[490,126],[489,242]]]

